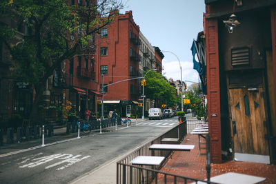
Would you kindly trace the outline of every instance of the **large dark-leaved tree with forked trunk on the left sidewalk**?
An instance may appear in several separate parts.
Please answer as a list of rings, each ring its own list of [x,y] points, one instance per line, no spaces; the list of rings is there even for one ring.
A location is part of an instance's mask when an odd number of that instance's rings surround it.
[[[10,17],[30,30],[14,45],[16,28],[0,24],[0,40],[10,50],[14,76],[34,87],[30,112],[34,121],[48,78],[66,59],[89,56],[95,32],[112,22],[122,4],[119,0],[86,0],[85,6],[68,6],[64,0],[1,0],[0,8],[0,18]],[[74,40],[68,39],[70,34]]]

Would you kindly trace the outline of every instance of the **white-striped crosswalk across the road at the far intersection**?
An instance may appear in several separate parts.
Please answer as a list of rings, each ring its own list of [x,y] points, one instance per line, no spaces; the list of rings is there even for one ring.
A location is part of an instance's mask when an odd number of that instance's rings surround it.
[[[178,125],[177,119],[148,120],[137,123],[140,126],[172,127]]]

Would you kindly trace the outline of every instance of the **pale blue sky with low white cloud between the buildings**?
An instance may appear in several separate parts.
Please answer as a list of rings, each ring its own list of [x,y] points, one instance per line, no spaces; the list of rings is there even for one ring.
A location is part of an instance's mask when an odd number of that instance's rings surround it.
[[[193,70],[193,55],[190,50],[193,39],[203,31],[204,0],[122,0],[121,14],[132,10],[135,23],[152,46],[163,52],[162,74],[167,79],[199,81]],[[187,85],[192,83],[187,82]]]

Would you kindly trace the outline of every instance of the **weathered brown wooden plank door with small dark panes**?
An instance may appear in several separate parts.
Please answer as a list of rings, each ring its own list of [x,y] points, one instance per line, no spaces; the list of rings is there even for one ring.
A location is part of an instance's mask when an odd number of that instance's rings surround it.
[[[235,154],[268,156],[263,88],[230,89],[229,107]]]

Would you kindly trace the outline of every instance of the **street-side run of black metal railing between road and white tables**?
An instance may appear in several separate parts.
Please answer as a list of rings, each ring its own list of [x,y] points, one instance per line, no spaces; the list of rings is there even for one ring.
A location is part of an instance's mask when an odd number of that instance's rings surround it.
[[[172,151],[150,151],[149,147],[152,144],[160,144],[161,140],[164,138],[178,138],[179,142],[184,139],[184,136],[187,134],[187,122],[173,127],[168,132],[161,134],[161,136],[141,145],[141,147],[134,150],[132,153],[128,154],[124,159],[121,159],[117,162],[117,183],[150,183],[153,181],[159,169],[164,163],[166,163]],[[144,165],[143,167],[138,167],[135,165],[130,165],[130,161],[135,159],[137,156],[164,156],[165,159],[158,167],[152,168],[152,166]],[[155,169],[155,170],[154,170]]]

